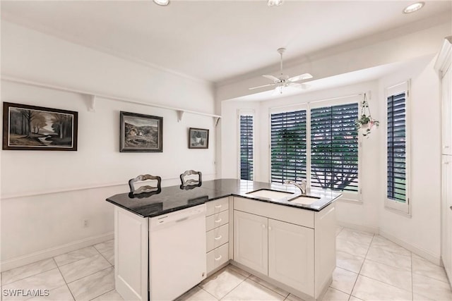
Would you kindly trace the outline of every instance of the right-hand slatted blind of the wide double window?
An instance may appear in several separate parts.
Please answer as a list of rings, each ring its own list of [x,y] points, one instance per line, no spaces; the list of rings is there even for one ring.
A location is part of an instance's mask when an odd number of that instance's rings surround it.
[[[358,104],[311,109],[311,186],[357,192]]]

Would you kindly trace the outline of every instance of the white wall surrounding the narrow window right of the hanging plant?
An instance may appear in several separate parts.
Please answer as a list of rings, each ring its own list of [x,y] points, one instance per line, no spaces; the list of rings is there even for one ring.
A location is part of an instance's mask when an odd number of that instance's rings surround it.
[[[439,47],[441,43],[439,43]],[[438,48],[439,49],[439,48]],[[384,89],[405,80],[411,80],[411,216],[385,209],[386,185],[379,202],[379,227],[383,234],[415,247],[424,257],[439,262],[440,257],[440,199],[441,199],[441,104],[439,78],[434,71],[434,61],[417,63],[382,78],[379,92],[382,95],[380,110],[386,110]],[[381,135],[381,152],[384,153],[386,136]],[[382,164],[386,164],[383,157]],[[386,183],[386,175],[381,174]]]

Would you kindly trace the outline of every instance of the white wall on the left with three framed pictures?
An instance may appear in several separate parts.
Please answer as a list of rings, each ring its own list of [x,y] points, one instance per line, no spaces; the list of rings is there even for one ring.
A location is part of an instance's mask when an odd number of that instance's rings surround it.
[[[214,113],[212,87],[2,21],[1,73],[156,104]],[[179,183],[186,169],[215,177],[213,118],[1,81],[3,102],[78,111],[78,151],[1,154],[1,269],[112,238],[112,204],[139,174]],[[119,111],[163,117],[162,153],[120,153]],[[210,130],[209,149],[188,149],[188,128]],[[124,184],[122,184],[124,183]],[[58,192],[61,191],[61,192]],[[88,219],[88,228],[83,220]]]

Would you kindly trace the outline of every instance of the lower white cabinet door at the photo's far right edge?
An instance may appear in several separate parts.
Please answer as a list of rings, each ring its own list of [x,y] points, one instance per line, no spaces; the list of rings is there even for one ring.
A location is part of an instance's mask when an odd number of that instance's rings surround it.
[[[452,156],[443,156],[441,185],[441,257],[452,284]]]

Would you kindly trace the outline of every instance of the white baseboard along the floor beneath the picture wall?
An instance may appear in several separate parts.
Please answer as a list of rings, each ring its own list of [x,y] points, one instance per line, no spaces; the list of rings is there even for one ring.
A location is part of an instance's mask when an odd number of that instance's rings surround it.
[[[57,247],[51,247],[47,250],[42,250],[34,252],[31,254],[26,254],[20,257],[15,257],[12,259],[7,259],[0,262],[0,271],[8,271],[14,269],[18,266],[24,266],[25,264],[31,264],[33,262],[38,262],[42,259],[52,258],[67,252],[75,251],[81,249],[82,247],[89,247],[90,245],[95,245],[100,242],[105,242],[107,240],[112,240],[114,238],[114,233],[109,232],[98,236],[93,236],[90,238],[83,238],[82,240],[77,240],[75,242],[69,242],[65,245],[59,245]]]

